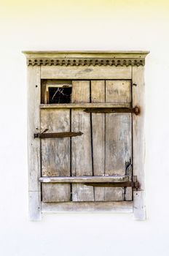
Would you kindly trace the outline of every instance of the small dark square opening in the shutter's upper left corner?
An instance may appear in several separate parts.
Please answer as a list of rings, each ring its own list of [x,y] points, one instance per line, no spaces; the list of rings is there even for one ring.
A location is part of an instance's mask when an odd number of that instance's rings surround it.
[[[49,87],[48,103],[70,103],[71,102],[71,87]]]

